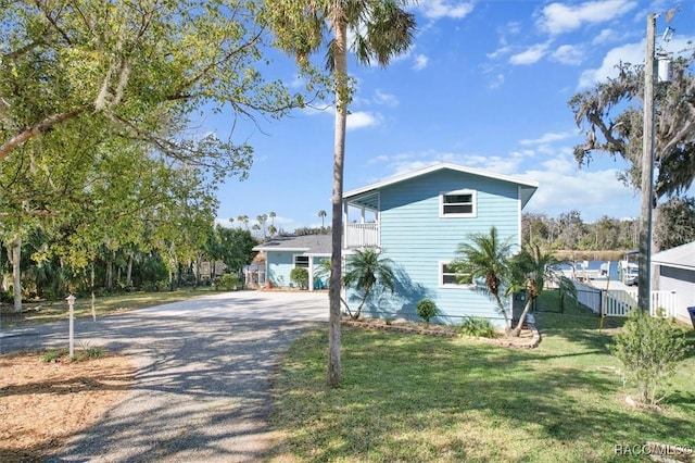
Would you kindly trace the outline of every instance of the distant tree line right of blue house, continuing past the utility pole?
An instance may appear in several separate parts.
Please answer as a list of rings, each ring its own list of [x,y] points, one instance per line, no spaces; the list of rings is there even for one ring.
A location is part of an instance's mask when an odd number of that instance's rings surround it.
[[[695,241],[695,199],[674,197],[657,207],[654,241],[666,250]],[[578,211],[557,217],[542,213],[523,213],[521,239],[525,245],[545,249],[576,251],[618,251],[637,249],[639,218],[603,216],[585,223]]]

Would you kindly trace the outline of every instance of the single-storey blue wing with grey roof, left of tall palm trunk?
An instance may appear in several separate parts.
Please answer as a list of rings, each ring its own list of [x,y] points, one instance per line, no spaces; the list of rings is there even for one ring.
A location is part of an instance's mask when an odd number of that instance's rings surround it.
[[[309,275],[309,290],[324,289],[328,277],[316,276],[321,261],[330,260],[330,235],[281,236],[258,245],[254,251],[265,254],[265,280],[274,287],[292,287],[290,272],[305,267]]]

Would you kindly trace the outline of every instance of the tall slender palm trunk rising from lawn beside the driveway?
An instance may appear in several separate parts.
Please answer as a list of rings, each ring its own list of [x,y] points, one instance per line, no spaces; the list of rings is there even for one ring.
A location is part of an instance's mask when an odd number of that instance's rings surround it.
[[[328,322],[328,385],[338,386],[342,376],[340,361],[340,280],[342,276],[343,166],[345,124],[348,121],[348,25],[334,22],[336,32],[336,138],[333,142],[333,191],[331,196],[332,230]]]

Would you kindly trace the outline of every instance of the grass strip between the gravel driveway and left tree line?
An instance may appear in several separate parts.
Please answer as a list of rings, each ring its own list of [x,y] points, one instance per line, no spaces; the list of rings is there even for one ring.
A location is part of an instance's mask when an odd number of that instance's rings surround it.
[[[204,296],[213,291],[212,288],[204,287],[198,289],[180,289],[176,291],[159,292],[127,292],[112,296],[99,297],[94,302],[97,316],[114,313],[127,312],[136,309],[146,309],[153,305],[184,301],[187,299]],[[35,308],[39,306],[39,310]],[[53,301],[41,303],[23,304],[24,311],[21,314],[12,313],[12,306],[2,305],[1,328],[16,328],[20,326],[35,325],[49,322],[67,320],[68,309],[66,301]],[[75,317],[92,316],[91,297],[78,297],[75,301]]]

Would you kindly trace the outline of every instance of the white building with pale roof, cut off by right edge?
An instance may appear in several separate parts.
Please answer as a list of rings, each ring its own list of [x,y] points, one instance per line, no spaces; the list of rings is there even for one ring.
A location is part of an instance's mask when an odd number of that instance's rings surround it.
[[[658,289],[675,292],[675,317],[690,324],[687,308],[695,306],[695,241],[654,254],[652,265],[658,266]]]

